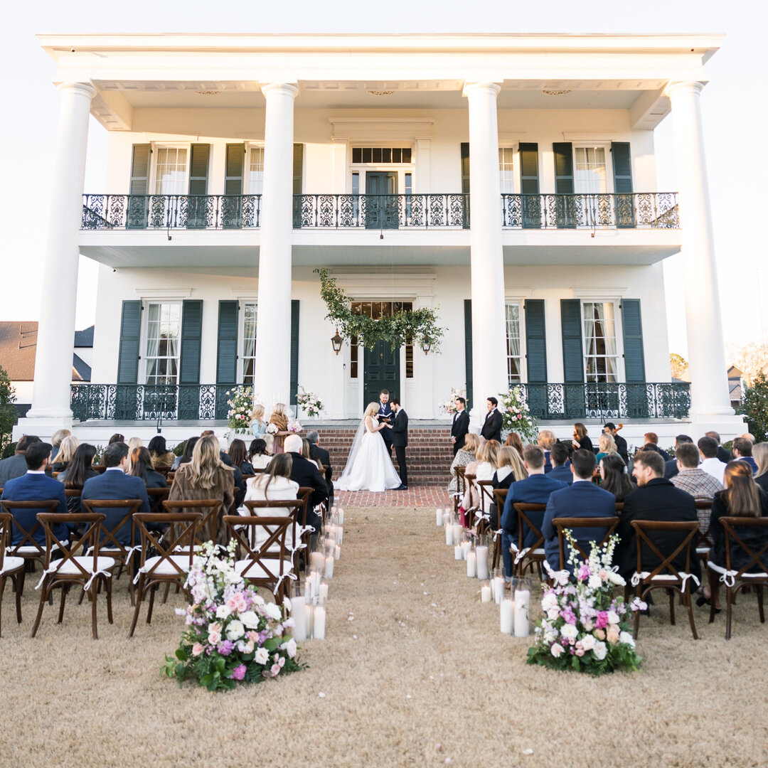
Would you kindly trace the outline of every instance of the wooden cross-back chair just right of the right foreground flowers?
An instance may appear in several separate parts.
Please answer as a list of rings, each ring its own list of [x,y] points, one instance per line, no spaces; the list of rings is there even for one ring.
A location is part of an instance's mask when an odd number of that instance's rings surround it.
[[[690,599],[690,544],[694,541],[699,530],[698,521],[690,522],[667,522],[657,520],[633,520],[632,528],[636,535],[637,561],[635,564],[635,573],[632,577],[632,583],[635,588],[635,595],[644,600],[654,589],[666,589],[669,591],[670,598],[670,624],[674,624],[674,593],[680,594],[684,604],[688,609],[688,620],[690,621],[690,631],[694,634],[694,640],[699,637],[696,634],[696,624],[694,622],[693,601]],[[649,533],[677,533],[680,540],[677,546],[667,552],[661,552],[654,541],[651,541]],[[644,571],[643,568],[643,548],[647,547],[650,553],[654,554],[659,564],[653,571]],[[682,570],[674,566],[674,558],[681,552],[685,553],[685,565]],[[634,631],[632,633],[637,640],[637,631],[640,628],[640,611],[634,611]]]

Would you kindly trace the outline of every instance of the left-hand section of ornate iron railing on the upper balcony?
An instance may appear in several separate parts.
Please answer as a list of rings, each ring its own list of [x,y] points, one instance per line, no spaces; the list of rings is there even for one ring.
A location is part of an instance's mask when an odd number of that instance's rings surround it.
[[[85,194],[81,229],[242,230],[260,217],[260,194]]]

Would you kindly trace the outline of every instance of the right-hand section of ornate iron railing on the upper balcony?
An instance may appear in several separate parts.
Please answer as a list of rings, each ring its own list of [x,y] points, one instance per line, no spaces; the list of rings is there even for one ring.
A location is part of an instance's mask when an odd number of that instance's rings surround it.
[[[502,217],[512,229],[680,228],[676,192],[502,194]]]

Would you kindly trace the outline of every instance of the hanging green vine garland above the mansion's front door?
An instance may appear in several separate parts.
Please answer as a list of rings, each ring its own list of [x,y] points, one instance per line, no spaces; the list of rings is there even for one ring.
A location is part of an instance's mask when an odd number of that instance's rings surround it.
[[[379,339],[388,341],[392,349],[404,344],[422,347],[429,343],[429,349],[437,352],[445,328],[439,326],[434,309],[422,307],[419,310],[400,311],[389,317],[374,320],[352,311],[352,301],[336,285],[336,278],[328,270],[314,270],[320,277],[320,298],[326,303],[326,319],[335,323],[345,339],[357,337],[358,343],[373,349]]]

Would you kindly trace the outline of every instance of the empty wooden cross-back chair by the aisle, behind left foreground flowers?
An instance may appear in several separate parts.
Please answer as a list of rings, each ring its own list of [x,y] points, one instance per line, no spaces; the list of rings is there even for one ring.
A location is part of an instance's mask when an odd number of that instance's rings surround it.
[[[272,502],[273,505],[290,505],[292,502]],[[286,578],[296,578],[293,561],[286,551],[286,535],[296,525],[298,507],[287,517],[250,517],[224,515],[224,525],[230,529],[230,536],[237,539],[237,561],[235,570],[254,587],[269,588],[277,604],[283,603],[286,594]],[[266,540],[259,547],[256,541],[257,528],[266,531]]]

